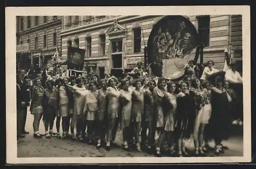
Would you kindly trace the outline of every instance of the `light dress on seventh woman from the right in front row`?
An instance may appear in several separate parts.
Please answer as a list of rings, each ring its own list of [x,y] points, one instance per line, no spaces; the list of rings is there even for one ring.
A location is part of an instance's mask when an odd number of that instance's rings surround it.
[[[132,116],[134,122],[141,122],[144,111],[144,93],[143,91],[133,90],[132,92]]]

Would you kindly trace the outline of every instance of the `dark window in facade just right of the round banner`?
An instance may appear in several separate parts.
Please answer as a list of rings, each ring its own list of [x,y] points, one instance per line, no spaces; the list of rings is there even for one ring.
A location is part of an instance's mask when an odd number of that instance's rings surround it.
[[[198,34],[204,46],[209,46],[210,16],[198,16]]]

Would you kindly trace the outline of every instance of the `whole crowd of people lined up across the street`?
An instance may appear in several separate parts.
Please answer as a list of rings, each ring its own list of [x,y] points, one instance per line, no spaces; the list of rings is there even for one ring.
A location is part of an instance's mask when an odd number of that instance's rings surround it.
[[[139,78],[130,74],[121,80],[114,76],[99,79],[97,75],[42,80],[38,75],[33,83],[25,70],[19,70],[17,139],[29,134],[25,124],[30,107],[34,138],[86,141],[110,151],[116,145],[117,131],[122,131],[122,148],[127,151],[135,148],[160,157],[167,143],[170,156],[189,156],[186,141],[191,139],[193,156],[204,156],[209,149],[220,155],[228,149],[223,140],[228,138],[233,110],[237,110],[242,77],[232,62],[225,76],[211,83],[208,77],[218,71],[213,65],[213,61],[207,62],[201,78],[187,74],[179,81],[151,79],[141,66],[135,68],[136,73],[141,71]],[[43,135],[39,133],[41,118]],[[53,132],[54,122],[57,133]],[[209,146],[211,138],[215,148]]]

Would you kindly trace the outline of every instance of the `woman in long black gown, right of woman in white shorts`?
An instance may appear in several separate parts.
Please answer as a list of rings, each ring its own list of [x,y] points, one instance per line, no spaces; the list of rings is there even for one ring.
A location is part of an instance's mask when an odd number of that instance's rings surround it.
[[[215,154],[219,155],[224,152],[222,141],[227,138],[228,123],[230,121],[230,108],[229,102],[231,97],[228,92],[223,88],[224,79],[216,77],[216,87],[211,88],[211,106],[212,113],[209,121],[210,128],[214,129],[212,134],[215,140]]]

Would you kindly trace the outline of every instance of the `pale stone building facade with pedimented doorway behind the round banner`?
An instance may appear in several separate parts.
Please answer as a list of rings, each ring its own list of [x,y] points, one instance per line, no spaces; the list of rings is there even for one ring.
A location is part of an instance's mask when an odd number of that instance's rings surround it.
[[[62,60],[68,46],[86,50],[84,70],[101,78],[111,69],[132,69],[144,62],[144,47],[156,23],[165,16],[62,16]],[[193,23],[204,43],[204,62],[213,60],[223,69],[224,50],[234,47],[234,57],[242,60],[242,16],[185,16]],[[171,66],[165,64],[166,74]]]

